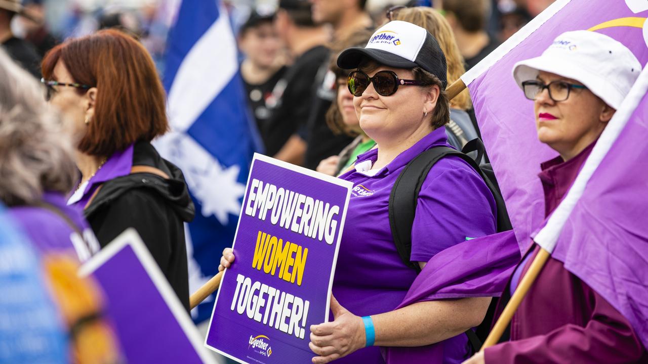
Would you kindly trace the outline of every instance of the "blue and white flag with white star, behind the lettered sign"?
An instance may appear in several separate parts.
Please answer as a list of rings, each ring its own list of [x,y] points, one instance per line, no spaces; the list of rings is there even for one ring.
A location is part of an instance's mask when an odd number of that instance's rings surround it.
[[[249,165],[259,145],[249,117],[227,12],[216,0],[183,0],[167,40],[164,85],[172,131],[155,143],[185,174],[196,218],[187,225],[189,291],[218,271],[232,245]],[[192,310],[209,319],[214,296]]]

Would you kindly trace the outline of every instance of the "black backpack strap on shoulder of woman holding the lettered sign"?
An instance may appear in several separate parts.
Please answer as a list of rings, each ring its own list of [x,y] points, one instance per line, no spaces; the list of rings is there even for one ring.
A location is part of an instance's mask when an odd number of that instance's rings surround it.
[[[417,273],[421,271],[421,267],[410,261],[411,227],[414,223],[417,199],[423,181],[432,166],[448,154],[461,154],[461,152],[446,146],[437,146],[417,155],[400,172],[389,194],[389,227],[391,227],[396,250],[402,262],[415,269]]]

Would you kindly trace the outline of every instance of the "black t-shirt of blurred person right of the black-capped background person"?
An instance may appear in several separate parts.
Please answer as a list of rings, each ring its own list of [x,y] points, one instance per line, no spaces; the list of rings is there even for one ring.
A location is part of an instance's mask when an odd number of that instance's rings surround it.
[[[275,85],[272,95],[266,100],[272,115],[259,130],[266,155],[277,154],[291,135],[306,127],[316,90],[315,76],[319,65],[328,58],[329,49],[323,45],[309,49],[288,67],[284,77]]]

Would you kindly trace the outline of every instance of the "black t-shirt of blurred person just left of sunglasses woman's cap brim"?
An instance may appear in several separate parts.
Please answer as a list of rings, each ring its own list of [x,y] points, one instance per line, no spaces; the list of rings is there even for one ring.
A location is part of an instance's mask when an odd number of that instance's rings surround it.
[[[353,142],[348,135],[335,135],[326,123],[326,113],[335,98],[336,77],[329,71],[329,60],[320,65],[316,78],[317,91],[308,116],[308,130],[305,133],[307,150],[304,166],[314,170],[322,159],[338,155],[345,146]]]

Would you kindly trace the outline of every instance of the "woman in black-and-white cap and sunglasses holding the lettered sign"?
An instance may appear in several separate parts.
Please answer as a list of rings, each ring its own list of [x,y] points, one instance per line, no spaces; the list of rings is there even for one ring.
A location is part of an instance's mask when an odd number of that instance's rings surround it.
[[[391,21],[367,45],[341,52],[338,67],[354,69],[349,91],[362,130],[377,148],[360,154],[341,238],[330,308],[334,321],[310,326],[313,363],[384,363],[380,347],[439,343],[434,362],[467,358],[466,330],[477,326],[491,301],[471,292],[397,306],[437,253],[496,232],[491,191],[463,159],[445,157],[432,167],[418,196],[411,230],[411,262],[399,256],[389,227],[389,195],[400,172],[417,155],[449,146],[446,60],[424,28]],[[221,266],[234,258],[224,251]],[[448,282],[451,283],[451,282]],[[483,295],[481,295],[483,296]],[[446,297],[448,298],[448,297]]]

